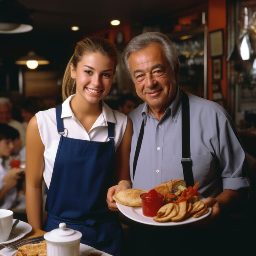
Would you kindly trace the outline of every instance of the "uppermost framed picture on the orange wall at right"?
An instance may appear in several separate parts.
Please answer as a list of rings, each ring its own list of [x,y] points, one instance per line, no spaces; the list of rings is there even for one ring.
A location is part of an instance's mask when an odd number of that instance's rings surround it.
[[[209,32],[210,56],[217,57],[224,54],[223,48],[223,29]]]

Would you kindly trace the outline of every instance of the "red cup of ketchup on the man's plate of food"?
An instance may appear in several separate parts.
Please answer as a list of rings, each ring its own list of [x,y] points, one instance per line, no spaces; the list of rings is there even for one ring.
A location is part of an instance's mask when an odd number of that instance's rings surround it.
[[[155,189],[151,189],[148,193],[140,195],[142,200],[142,213],[147,217],[157,216],[157,211],[163,205],[164,195],[157,193]]]

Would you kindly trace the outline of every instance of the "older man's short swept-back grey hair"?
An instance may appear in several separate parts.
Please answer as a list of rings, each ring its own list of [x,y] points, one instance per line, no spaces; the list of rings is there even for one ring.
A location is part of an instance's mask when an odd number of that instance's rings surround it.
[[[171,70],[174,72],[175,80],[177,83],[177,81],[179,80],[180,63],[179,58],[177,56],[177,52],[175,50],[175,46],[166,35],[159,32],[147,32],[139,36],[135,36],[134,38],[132,38],[132,40],[130,40],[122,54],[122,59],[126,71],[132,78],[129,67],[130,55],[133,52],[137,52],[141,49],[146,48],[151,43],[158,43],[162,46],[166,59],[170,64]]]

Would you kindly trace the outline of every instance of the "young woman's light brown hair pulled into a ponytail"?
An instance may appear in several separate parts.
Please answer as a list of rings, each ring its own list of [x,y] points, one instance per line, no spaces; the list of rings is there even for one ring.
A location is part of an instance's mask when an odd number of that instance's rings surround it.
[[[102,37],[86,37],[83,40],[76,43],[74,54],[67,63],[67,67],[63,76],[62,83],[62,98],[63,101],[67,99],[70,95],[76,92],[76,79],[71,77],[70,65],[73,64],[76,68],[77,63],[82,60],[85,54],[98,52],[100,54],[106,55],[114,61],[114,74],[118,63],[117,49],[113,43],[108,39]]]

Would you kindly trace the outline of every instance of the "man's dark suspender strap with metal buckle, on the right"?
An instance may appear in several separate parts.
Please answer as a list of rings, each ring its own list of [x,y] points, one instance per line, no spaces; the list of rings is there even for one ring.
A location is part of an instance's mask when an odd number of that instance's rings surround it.
[[[186,186],[193,186],[193,172],[192,163],[190,159],[190,115],[189,115],[189,97],[182,90],[181,97],[182,106],[182,159],[180,162],[183,168],[184,180],[186,181]]]

